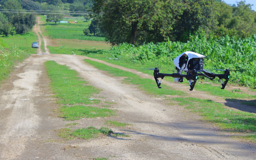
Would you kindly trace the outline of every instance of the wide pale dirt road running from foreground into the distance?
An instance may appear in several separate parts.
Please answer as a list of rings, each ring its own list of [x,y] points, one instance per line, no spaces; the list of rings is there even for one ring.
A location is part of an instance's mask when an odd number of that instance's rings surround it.
[[[40,28],[35,29],[40,33]],[[39,42],[41,41],[40,36]],[[44,37],[44,44],[47,40]],[[123,84],[83,62],[77,55],[32,55],[0,86],[0,159],[256,159],[253,144],[233,139],[212,124],[202,123],[181,106],[166,104],[135,86]],[[115,133],[130,137],[101,135],[91,140],[66,141],[57,136],[58,129],[70,123],[56,117],[57,106],[51,98],[49,79],[43,63],[54,60],[79,73],[90,85],[102,89],[102,100],[116,102],[117,116],[83,118],[72,129],[102,127],[106,120],[131,123],[128,127],[111,127]],[[104,97],[104,98],[102,98]]]

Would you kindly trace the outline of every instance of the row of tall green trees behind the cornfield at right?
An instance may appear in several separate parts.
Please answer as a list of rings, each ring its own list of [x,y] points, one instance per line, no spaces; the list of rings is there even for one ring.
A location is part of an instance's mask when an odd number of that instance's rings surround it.
[[[187,42],[201,34],[214,38],[250,37],[256,33],[256,13],[245,1],[221,0],[94,0],[94,20],[113,45],[122,42]]]

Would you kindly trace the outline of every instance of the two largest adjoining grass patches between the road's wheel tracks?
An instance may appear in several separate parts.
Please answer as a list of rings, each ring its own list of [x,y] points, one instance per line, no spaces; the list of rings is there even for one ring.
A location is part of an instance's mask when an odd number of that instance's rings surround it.
[[[93,99],[100,89],[88,85],[87,81],[77,77],[78,73],[67,66],[59,65],[55,61],[45,62],[50,86],[58,104],[62,106],[60,117],[65,120],[77,120],[80,118],[106,117],[114,115],[114,110],[107,108],[85,106],[85,104],[99,104],[99,99]]]

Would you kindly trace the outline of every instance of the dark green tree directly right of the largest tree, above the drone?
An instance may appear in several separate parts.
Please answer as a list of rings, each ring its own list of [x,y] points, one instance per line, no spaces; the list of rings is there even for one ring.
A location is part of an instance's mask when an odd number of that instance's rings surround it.
[[[214,18],[215,2],[216,0],[188,0],[184,3],[185,8],[173,27],[170,39],[187,42],[190,35],[197,34],[200,28],[209,32],[217,24]]]

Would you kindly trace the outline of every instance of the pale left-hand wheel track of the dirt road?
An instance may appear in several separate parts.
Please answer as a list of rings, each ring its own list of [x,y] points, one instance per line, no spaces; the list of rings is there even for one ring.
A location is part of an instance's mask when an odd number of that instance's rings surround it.
[[[25,142],[32,136],[33,129],[37,128],[39,119],[36,114],[34,102],[35,86],[41,72],[36,63],[20,64],[23,72],[12,83],[12,89],[1,93],[1,112],[5,111],[5,123],[1,124],[0,148],[1,158],[13,159],[25,148]],[[8,116],[7,116],[8,115]]]

